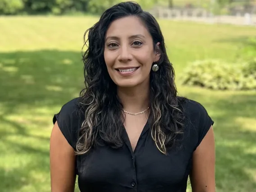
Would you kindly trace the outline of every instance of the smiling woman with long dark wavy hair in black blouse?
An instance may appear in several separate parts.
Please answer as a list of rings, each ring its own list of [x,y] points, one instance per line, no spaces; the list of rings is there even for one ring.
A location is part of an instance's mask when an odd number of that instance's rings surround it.
[[[86,89],[55,115],[52,192],[215,192],[213,121],[177,96],[160,27],[136,3],[88,31]],[[87,33],[86,33],[87,34]]]

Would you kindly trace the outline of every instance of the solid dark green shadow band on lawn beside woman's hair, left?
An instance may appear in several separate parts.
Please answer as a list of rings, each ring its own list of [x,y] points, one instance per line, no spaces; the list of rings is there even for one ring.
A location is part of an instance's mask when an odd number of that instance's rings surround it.
[[[39,50],[0,53],[2,112],[12,113],[24,105],[62,105],[83,88],[82,68],[79,52]]]

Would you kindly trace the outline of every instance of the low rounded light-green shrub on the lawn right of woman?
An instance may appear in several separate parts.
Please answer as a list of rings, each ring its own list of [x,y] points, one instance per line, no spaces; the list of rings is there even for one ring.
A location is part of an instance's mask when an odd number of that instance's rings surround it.
[[[243,64],[195,61],[185,70],[182,82],[214,90],[256,90],[256,59]]]

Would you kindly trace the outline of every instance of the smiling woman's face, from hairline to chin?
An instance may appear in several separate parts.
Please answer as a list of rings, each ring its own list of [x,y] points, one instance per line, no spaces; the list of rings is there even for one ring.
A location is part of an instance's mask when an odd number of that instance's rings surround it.
[[[135,87],[149,83],[152,63],[159,57],[150,33],[139,18],[129,16],[110,24],[104,58],[108,73],[117,86]]]

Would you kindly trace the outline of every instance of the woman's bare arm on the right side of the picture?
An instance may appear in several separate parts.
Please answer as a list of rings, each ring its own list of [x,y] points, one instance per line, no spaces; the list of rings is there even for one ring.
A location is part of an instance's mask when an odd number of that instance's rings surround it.
[[[192,192],[215,192],[215,140],[212,126],[193,153]]]

